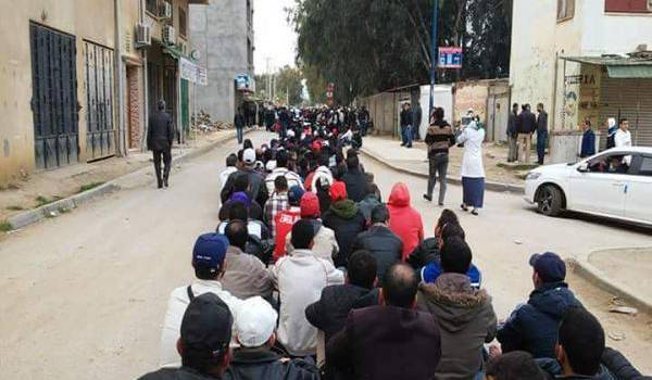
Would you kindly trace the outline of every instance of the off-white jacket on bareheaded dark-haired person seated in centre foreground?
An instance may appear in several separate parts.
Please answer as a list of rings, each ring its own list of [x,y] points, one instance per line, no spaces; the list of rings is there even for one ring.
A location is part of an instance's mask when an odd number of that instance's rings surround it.
[[[317,329],[305,319],[305,307],[319,300],[324,288],[344,283],[344,274],[310,250],[294,250],[269,271],[280,295],[278,341],[292,356],[314,355]]]

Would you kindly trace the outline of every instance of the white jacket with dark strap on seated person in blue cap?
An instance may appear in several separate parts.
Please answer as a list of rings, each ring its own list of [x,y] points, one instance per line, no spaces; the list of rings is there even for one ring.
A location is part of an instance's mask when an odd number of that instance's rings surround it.
[[[226,290],[223,290],[220,281],[195,280],[191,284],[191,289],[195,296],[208,292],[216,294],[228,306],[234,320],[236,319],[236,315],[242,305],[242,301],[233,296]],[[179,287],[170,294],[167,312],[165,312],[165,321],[163,322],[163,331],[161,332],[161,367],[181,366],[181,357],[177,353],[176,342],[179,339],[181,319],[184,319],[184,313],[186,313],[188,304],[190,304],[188,286]],[[233,335],[236,335],[235,331]],[[231,342],[231,345],[234,345],[234,342]]]

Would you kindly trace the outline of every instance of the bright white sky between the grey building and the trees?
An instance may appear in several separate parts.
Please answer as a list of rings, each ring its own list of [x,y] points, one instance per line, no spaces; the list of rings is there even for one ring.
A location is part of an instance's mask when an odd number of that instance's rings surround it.
[[[255,74],[285,65],[294,66],[297,34],[287,23],[284,8],[294,5],[294,0],[254,0],[253,33],[255,51],[253,55]]]

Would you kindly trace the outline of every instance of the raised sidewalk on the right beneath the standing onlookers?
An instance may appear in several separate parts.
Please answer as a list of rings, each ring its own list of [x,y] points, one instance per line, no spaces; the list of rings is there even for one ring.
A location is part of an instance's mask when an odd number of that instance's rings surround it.
[[[380,161],[385,161],[401,169],[428,175],[428,154],[424,142],[414,142],[412,149],[401,147],[401,141],[391,137],[367,136],[364,138],[362,150]],[[534,166],[507,164],[507,147],[486,142],[482,147],[486,179],[498,182],[524,186],[524,179]],[[450,150],[449,177],[459,178],[462,167],[464,149],[453,147]],[[534,159],[534,156],[532,156]]]

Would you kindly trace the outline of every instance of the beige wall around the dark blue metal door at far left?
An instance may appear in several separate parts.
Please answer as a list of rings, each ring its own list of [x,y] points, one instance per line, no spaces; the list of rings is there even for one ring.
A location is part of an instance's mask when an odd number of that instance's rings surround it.
[[[79,162],[84,162],[86,97],[83,43],[86,39],[114,48],[114,4],[104,0],[3,0],[2,3],[7,12],[0,13],[0,185],[5,185],[22,173],[34,172],[29,21],[76,37],[77,98],[83,105],[78,125]]]

